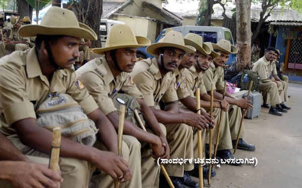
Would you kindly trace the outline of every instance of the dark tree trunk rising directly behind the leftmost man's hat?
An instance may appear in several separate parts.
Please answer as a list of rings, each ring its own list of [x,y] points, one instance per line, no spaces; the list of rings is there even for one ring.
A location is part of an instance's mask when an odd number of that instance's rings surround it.
[[[69,7],[69,4],[64,4],[63,8]],[[97,41],[91,41],[90,48],[100,48],[100,24],[103,12],[103,0],[87,0],[81,1],[77,5],[73,5],[71,11],[77,16],[79,22],[88,25],[98,36]]]

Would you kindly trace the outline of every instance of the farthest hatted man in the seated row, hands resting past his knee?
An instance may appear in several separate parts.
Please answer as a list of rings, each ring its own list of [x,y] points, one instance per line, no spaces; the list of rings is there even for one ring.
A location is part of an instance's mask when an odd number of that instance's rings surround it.
[[[221,39],[217,44],[212,43],[212,47],[215,52],[219,53],[220,56],[213,59],[213,62],[206,67],[206,70],[203,74],[204,86],[208,93],[211,90],[211,84],[214,85],[214,98],[221,100],[223,94],[223,78],[224,71],[223,67],[226,62],[228,62],[230,54],[236,54],[237,48],[231,45],[231,42],[228,40]],[[240,127],[240,120],[242,118],[242,113],[240,108],[251,109],[253,107],[252,101],[246,99],[236,99],[232,97],[228,92],[225,92],[224,99],[230,103],[229,108],[229,124],[232,137],[233,147],[235,147],[238,130]],[[247,144],[244,140],[244,125],[239,135],[238,149],[243,149],[247,151],[254,151],[255,146],[253,144]],[[220,158],[230,158],[234,157],[230,149],[224,149],[217,151],[217,157]]]

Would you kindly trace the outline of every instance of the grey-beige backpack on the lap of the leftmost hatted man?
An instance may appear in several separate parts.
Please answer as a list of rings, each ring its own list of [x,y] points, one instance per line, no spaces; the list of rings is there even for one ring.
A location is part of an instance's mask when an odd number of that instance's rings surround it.
[[[88,146],[96,141],[98,129],[80,104],[67,94],[50,93],[36,110],[37,124],[50,131],[61,127],[62,136]]]

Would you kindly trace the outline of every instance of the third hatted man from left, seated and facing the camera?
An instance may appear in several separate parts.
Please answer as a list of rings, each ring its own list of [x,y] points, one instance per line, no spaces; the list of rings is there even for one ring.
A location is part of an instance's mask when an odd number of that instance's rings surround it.
[[[157,120],[167,128],[171,158],[193,158],[193,130],[190,126],[204,129],[206,121],[199,114],[180,113],[173,72],[183,56],[195,52],[195,48],[184,44],[181,33],[170,31],[158,43],[149,45],[146,51],[156,57],[135,64],[131,74],[134,83]],[[159,107],[161,100],[165,103],[162,110]],[[165,167],[175,187],[199,187],[199,183],[187,173],[194,164],[166,164]]]

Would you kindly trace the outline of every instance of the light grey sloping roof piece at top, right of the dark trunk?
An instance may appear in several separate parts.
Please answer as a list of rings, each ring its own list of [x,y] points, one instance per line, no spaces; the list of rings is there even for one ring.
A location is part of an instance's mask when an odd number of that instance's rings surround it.
[[[103,14],[102,19],[108,19],[110,15],[116,13],[118,10],[123,9],[133,0],[126,1],[126,2],[110,2],[110,1],[103,1]]]

